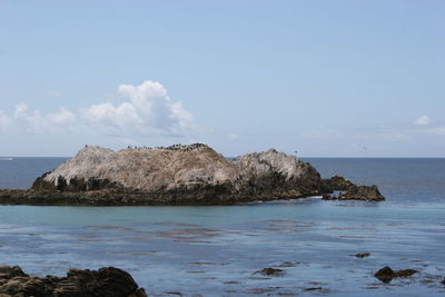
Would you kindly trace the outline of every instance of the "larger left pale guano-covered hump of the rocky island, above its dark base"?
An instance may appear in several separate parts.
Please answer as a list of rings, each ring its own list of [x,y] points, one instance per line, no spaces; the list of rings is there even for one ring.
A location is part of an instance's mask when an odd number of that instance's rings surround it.
[[[108,179],[127,188],[157,190],[179,185],[233,180],[235,166],[209,147],[195,149],[123,149],[113,151],[88,146],[44,177],[57,185],[59,177]]]

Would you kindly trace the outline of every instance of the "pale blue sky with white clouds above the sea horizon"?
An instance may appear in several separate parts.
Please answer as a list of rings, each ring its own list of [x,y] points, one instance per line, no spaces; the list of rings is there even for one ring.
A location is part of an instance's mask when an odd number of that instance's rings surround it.
[[[0,0],[0,156],[445,157],[445,1]]]

